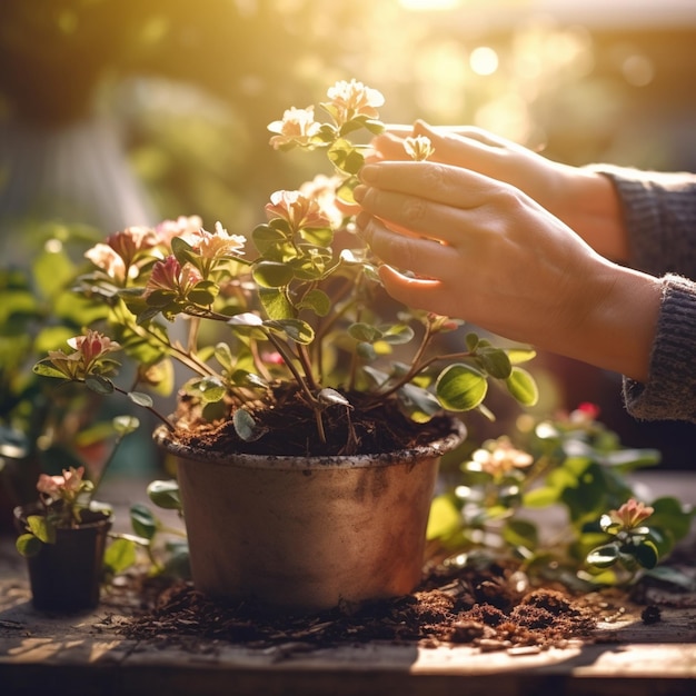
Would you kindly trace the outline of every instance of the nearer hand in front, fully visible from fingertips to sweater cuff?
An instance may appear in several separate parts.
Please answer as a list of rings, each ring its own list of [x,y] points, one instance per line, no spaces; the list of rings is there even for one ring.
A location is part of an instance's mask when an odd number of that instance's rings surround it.
[[[609,262],[529,196],[478,172],[382,161],[360,179],[358,226],[397,300],[646,378],[655,278]]]

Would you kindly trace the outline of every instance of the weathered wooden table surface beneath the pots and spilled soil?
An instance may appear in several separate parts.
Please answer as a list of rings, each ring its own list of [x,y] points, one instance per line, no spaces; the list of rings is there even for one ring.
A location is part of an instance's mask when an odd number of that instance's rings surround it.
[[[696,474],[640,478],[654,496],[696,503]],[[113,481],[102,497],[117,519],[127,519],[125,510],[142,499],[143,488]],[[69,617],[36,612],[23,559],[12,538],[0,538],[0,696],[54,693],[54,686],[71,696],[696,694],[696,594],[665,597],[656,624],[643,623],[643,607],[623,606],[601,617],[593,643],[543,652],[380,643],[250,649],[212,640],[162,648],[125,638],[118,627],[126,619],[108,600]]]

